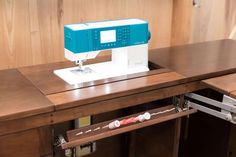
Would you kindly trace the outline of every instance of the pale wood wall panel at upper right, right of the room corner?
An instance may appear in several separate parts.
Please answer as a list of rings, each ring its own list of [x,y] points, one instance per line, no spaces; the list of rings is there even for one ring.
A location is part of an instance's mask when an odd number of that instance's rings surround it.
[[[226,37],[226,1],[200,0],[193,7],[190,42],[223,39]]]

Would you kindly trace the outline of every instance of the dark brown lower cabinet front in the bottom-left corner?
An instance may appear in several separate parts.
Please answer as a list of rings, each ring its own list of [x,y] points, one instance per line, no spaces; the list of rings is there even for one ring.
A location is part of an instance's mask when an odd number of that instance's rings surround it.
[[[39,157],[52,155],[51,127],[0,136],[1,157]]]

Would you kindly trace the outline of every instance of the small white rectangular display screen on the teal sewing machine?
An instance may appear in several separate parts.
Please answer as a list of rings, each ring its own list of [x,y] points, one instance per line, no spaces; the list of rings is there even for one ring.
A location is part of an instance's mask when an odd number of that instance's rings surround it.
[[[101,44],[116,42],[116,30],[101,31],[100,42]]]

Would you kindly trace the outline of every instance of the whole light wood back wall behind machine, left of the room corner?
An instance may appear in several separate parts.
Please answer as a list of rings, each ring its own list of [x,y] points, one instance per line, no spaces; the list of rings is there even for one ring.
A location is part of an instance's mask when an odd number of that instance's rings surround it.
[[[0,69],[64,60],[63,26],[142,18],[150,48],[170,45],[172,0],[0,0]]]

